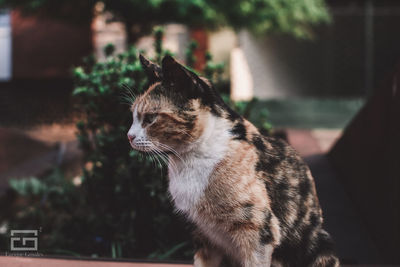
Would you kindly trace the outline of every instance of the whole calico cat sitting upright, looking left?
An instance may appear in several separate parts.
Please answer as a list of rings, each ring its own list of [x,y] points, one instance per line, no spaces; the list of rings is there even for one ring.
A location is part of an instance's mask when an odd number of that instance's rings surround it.
[[[168,160],[169,193],[196,230],[195,267],[339,266],[307,165],[227,106],[205,78],[142,55],[133,149]]]

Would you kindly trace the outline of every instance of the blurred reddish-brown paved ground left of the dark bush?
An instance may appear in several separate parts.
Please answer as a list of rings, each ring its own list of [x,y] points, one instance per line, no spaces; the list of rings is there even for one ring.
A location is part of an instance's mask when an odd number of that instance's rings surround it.
[[[0,194],[10,178],[40,176],[68,162],[68,174],[76,172],[80,152],[75,126],[47,125],[21,130],[0,127]]]

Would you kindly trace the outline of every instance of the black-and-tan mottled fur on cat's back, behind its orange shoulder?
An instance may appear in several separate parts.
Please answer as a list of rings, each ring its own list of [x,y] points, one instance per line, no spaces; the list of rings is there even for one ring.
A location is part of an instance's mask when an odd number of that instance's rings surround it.
[[[322,223],[314,179],[307,164],[283,139],[261,136],[256,170],[271,199],[271,209],[288,229]]]

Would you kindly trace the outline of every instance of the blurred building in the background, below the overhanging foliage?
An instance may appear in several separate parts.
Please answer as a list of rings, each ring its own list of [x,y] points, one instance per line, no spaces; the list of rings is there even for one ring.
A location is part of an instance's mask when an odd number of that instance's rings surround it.
[[[216,61],[229,63],[232,49],[240,48],[251,73],[250,90],[261,99],[368,95],[399,57],[399,41],[392,38],[399,34],[399,4],[328,3],[333,23],[318,28],[313,41],[222,29],[207,34],[206,49]],[[71,66],[93,51],[101,55],[106,43],[116,44],[117,51],[127,47],[124,24],[112,22],[108,13],[86,25],[21,16],[17,10],[2,11],[0,16],[3,82],[69,77]],[[171,25],[166,31],[167,48],[183,60],[190,30]],[[142,38],[139,47],[151,47],[151,37]]]

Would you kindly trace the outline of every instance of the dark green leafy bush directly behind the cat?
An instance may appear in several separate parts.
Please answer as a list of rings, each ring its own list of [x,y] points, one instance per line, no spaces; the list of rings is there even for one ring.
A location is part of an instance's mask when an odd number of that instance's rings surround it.
[[[162,37],[157,28],[156,61],[170,53],[162,48]],[[108,45],[104,52],[105,61],[87,57],[73,72],[73,94],[82,114],[77,123],[82,176],[67,179],[56,169],[41,179],[11,180],[20,200],[8,218],[9,229],[41,227],[39,252],[44,254],[191,259],[190,225],[174,213],[165,166],[132,150],[127,141],[130,104],[147,84],[139,51],[131,47],[114,55]],[[226,83],[218,82],[223,65],[213,63],[211,55],[206,70],[216,88],[223,88]],[[233,103],[223,96],[244,116],[257,102]],[[259,114],[254,122],[267,130],[262,109]]]

